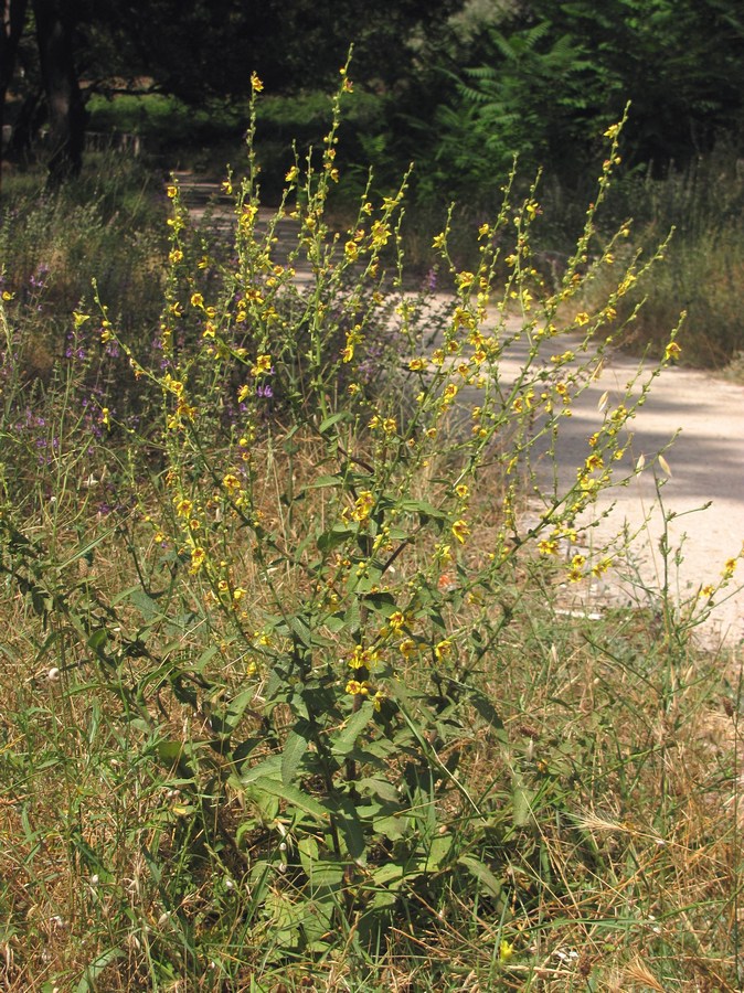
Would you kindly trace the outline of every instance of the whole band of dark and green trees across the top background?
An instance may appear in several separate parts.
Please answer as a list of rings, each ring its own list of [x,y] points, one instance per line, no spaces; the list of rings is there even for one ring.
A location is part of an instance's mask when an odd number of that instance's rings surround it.
[[[387,146],[423,151],[434,184],[488,183],[514,152],[571,173],[627,102],[634,163],[663,170],[742,140],[740,0],[2,3],[0,103],[13,85],[34,107],[43,94],[57,179],[79,168],[79,78],[146,77],[203,106],[245,96],[253,71],[274,92],[326,87],[352,42],[354,78],[386,95]]]

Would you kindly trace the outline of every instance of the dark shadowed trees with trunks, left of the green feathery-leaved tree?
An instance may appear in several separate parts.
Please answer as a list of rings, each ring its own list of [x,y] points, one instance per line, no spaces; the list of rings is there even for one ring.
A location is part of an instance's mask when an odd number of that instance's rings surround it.
[[[4,4],[2,103],[12,79],[26,0]],[[391,87],[415,72],[427,40],[464,0],[31,0],[51,140],[53,182],[81,167],[78,76],[146,76],[191,105],[249,93],[251,73],[293,90],[338,78],[354,43],[354,78]]]

